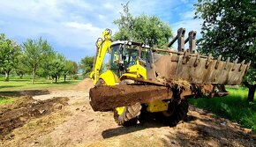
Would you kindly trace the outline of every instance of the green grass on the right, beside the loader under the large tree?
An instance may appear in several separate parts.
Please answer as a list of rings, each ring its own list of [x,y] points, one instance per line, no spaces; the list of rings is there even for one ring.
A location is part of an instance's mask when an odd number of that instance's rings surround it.
[[[195,107],[204,108],[224,117],[236,121],[242,127],[256,131],[256,101],[247,102],[246,88],[229,88],[230,95],[213,99],[189,99]],[[255,94],[256,95],[256,94]],[[256,96],[255,96],[256,98]]]

